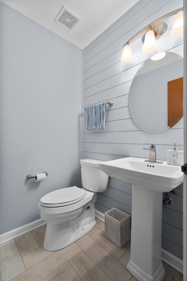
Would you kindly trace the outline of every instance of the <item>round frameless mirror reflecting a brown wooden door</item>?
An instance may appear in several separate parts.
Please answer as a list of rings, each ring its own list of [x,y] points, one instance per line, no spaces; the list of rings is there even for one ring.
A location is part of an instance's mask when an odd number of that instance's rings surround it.
[[[166,52],[148,59],[132,81],[129,110],[145,132],[173,127],[183,116],[183,58]]]

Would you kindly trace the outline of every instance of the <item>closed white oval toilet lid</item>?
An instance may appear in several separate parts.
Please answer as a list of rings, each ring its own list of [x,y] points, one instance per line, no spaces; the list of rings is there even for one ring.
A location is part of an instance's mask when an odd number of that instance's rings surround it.
[[[79,202],[86,196],[86,191],[71,186],[54,190],[40,199],[40,204],[45,207],[61,207]]]

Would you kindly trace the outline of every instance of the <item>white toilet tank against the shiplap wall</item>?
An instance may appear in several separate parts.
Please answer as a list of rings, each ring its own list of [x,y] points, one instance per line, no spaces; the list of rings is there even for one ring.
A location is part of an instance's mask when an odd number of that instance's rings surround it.
[[[108,176],[101,171],[99,163],[103,161],[91,159],[80,161],[82,186],[93,192],[105,191],[108,184]]]

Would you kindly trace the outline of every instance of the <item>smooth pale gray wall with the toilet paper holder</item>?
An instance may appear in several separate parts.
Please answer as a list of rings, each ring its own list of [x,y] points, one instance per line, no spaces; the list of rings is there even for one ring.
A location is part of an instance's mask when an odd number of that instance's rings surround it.
[[[1,233],[39,219],[46,193],[81,187],[81,69],[81,49],[1,3]]]

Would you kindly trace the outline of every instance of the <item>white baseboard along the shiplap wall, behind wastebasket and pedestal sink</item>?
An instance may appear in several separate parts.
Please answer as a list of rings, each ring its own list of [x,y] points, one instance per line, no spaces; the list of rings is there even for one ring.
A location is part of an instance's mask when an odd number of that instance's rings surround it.
[[[95,210],[95,216],[102,222],[105,222],[105,214],[99,212],[98,210]],[[164,249],[162,249],[162,260],[169,266],[183,274],[183,260],[180,260],[179,258]]]

